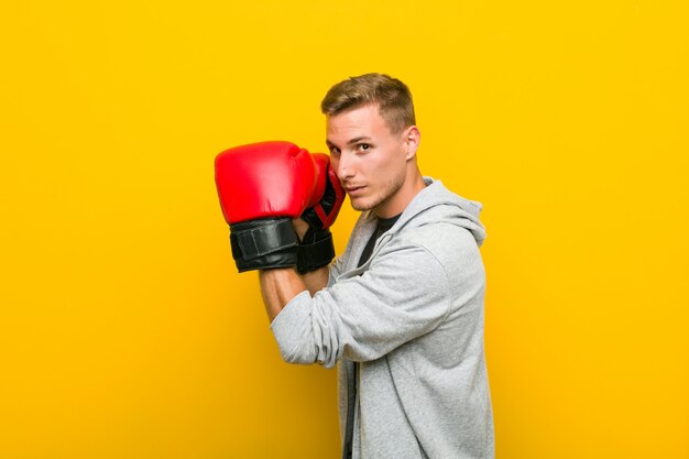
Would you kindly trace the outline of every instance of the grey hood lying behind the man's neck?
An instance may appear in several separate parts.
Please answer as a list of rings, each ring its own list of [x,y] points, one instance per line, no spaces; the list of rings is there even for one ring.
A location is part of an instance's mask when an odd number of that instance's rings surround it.
[[[442,182],[431,177],[424,177],[424,182],[426,182],[426,188],[412,199],[386,234],[392,236],[406,226],[418,227],[445,221],[469,230],[477,245],[481,247],[485,239],[485,228],[479,219],[479,214],[483,208],[481,203],[456,195],[447,189]],[[367,217],[375,218],[370,212]]]

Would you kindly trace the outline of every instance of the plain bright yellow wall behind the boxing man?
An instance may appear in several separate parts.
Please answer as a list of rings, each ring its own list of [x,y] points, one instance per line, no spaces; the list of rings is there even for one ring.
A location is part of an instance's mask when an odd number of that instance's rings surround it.
[[[335,371],[281,361],[212,160],[322,150],[327,88],[381,70],[484,204],[497,457],[688,458],[688,9],[3,6],[0,457],[338,457]]]

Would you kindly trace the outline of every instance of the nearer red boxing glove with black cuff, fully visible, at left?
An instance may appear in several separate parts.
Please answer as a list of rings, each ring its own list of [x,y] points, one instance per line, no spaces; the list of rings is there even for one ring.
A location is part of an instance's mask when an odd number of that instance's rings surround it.
[[[292,219],[310,204],[316,187],[311,155],[289,142],[261,142],[226,150],[215,165],[239,272],[296,265]]]

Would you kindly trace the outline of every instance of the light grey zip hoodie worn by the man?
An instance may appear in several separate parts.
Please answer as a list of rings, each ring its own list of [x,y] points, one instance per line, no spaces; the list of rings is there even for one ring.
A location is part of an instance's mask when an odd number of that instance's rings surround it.
[[[358,378],[353,459],[495,456],[481,204],[425,179],[367,263],[357,267],[376,219],[363,212],[328,286],[294,297],[271,325],[285,361],[339,362],[342,437]]]

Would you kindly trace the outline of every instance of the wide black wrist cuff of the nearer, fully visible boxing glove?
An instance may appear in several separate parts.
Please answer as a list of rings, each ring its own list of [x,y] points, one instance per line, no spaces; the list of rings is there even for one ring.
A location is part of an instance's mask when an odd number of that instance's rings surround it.
[[[298,239],[289,218],[230,225],[232,256],[240,273],[297,264]]]

